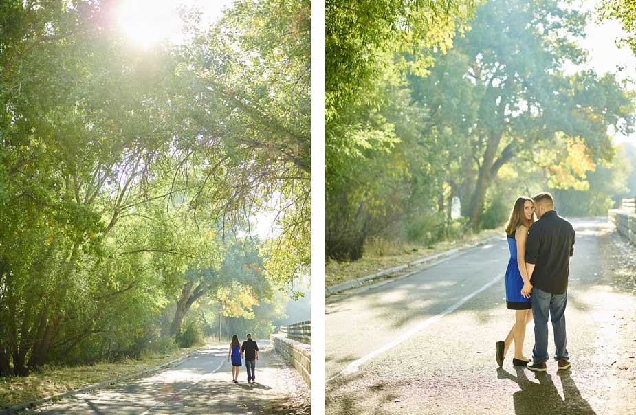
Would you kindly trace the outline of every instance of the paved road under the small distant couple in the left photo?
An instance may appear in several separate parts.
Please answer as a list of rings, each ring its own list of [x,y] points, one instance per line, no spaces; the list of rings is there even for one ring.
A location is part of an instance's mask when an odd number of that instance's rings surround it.
[[[127,385],[79,394],[37,414],[156,415],[156,414],[280,414],[292,396],[289,373],[267,343],[261,344],[256,383],[247,382],[245,366],[239,384],[232,383],[228,348],[212,346],[178,366]],[[289,413],[289,412],[285,412]],[[293,412],[292,412],[293,413]]]

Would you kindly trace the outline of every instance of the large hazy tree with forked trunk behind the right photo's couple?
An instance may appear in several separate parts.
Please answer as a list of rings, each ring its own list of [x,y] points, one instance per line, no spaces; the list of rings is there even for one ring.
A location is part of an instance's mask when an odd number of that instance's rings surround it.
[[[432,70],[440,73],[411,83],[415,99],[431,113],[460,115],[452,126],[465,149],[457,186],[462,214],[473,227],[480,224],[487,189],[514,157],[541,142],[556,148],[556,135],[564,134],[581,139],[591,159],[610,160],[607,128],[633,128],[632,98],[612,74],[564,73],[564,65],[586,58],[575,39],[583,36],[587,17],[557,1],[490,1],[479,6],[452,53],[438,58]],[[452,108],[438,91],[457,85],[467,92]]]

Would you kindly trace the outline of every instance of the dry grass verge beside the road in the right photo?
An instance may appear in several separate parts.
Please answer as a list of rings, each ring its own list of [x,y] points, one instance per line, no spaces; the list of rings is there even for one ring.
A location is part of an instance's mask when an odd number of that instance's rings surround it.
[[[364,245],[364,254],[362,254],[360,260],[354,262],[327,260],[325,263],[325,287],[368,276],[383,269],[397,267],[420,258],[433,256],[461,245],[476,243],[496,235],[503,235],[504,232],[502,226],[496,229],[484,229],[474,234],[466,234],[457,240],[444,240],[426,245],[371,239]]]

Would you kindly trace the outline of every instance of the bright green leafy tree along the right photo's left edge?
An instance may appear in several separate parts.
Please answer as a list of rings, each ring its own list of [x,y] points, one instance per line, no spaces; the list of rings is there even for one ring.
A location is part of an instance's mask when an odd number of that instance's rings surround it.
[[[325,3],[325,249],[358,258],[369,233],[363,175],[397,142],[380,109],[407,73],[424,75],[435,50],[452,47],[474,1]],[[376,199],[382,204],[387,199]]]

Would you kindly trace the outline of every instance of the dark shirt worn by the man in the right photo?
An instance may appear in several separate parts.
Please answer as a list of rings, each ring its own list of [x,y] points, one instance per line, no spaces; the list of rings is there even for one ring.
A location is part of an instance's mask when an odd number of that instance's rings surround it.
[[[567,292],[570,257],[574,254],[574,228],[556,213],[545,212],[530,227],[525,262],[535,264],[530,282],[551,294]]]

